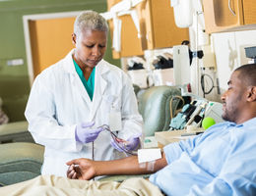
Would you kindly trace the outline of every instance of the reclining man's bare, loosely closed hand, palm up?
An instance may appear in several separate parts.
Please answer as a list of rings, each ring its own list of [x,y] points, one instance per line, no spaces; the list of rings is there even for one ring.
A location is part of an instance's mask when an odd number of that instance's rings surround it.
[[[96,162],[89,159],[76,159],[67,163],[67,177],[71,179],[91,179],[96,176]]]

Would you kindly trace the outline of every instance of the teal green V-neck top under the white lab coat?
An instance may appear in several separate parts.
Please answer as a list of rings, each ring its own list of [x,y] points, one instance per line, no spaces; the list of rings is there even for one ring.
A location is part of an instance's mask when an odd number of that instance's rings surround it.
[[[88,81],[84,76],[84,73],[82,72],[81,68],[79,67],[79,65],[75,62],[75,60],[73,59],[74,65],[75,65],[75,69],[79,75],[79,77],[81,78],[82,83],[84,84],[87,93],[91,99],[91,101],[93,101],[93,97],[94,97],[94,91],[95,91],[95,75],[96,75],[96,68],[94,68],[93,72],[91,73]]]

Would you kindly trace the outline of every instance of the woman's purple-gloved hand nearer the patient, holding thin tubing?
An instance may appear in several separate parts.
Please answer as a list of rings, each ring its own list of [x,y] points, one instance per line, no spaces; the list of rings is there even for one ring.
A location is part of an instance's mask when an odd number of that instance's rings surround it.
[[[134,137],[130,137],[127,141],[119,138],[115,141],[113,141],[112,139],[110,143],[112,147],[118,150],[119,152],[133,151],[140,144],[140,136],[141,134],[136,135]]]

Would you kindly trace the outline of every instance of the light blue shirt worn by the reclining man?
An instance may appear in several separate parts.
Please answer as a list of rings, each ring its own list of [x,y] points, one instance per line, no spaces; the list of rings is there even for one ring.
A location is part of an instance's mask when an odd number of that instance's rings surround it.
[[[150,180],[166,195],[256,195],[256,118],[215,124],[163,150],[168,166]]]

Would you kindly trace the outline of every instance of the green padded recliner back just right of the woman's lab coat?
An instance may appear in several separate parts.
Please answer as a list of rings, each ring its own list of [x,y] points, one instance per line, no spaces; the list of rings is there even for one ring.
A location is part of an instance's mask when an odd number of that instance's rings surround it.
[[[138,107],[144,120],[145,136],[169,129],[171,114],[180,102],[180,99],[173,98],[180,96],[180,89],[174,86],[153,86],[139,96]]]

